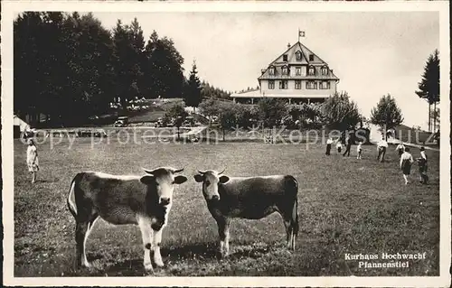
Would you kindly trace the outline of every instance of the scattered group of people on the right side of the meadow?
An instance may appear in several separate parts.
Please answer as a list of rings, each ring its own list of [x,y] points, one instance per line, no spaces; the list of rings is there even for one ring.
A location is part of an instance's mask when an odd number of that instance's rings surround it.
[[[336,145],[337,153],[342,152],[342,142],[341,138],[338,137],[337,139],[333,140],[332,137],[329,137],[326,140],[326,152],[325,155],[331,154],[331,147],[332,145]],[[350,135],[347,136],[345,139],[345,152],[343,153],[343,156],[347,155],[350,156],[350,150],[352,147],[352,137]],[[377,160],[381,163],[384,162],[384,156],[386,155],[386,151],[389,147],[388,142],[385,140],[385,137],[383,136],[381,138],[381,141],[377,143],[377,151],[378,156]],[[400,143],[396,147],[396,151],[399,153],[399,159],[400,159],[400,170],[403,174],[403,179],[405,181],[405,185],[409,183],[409,175],[411,171],[411,166],[414,163],[413,156],[410,153],[410,147],[405,146]],[[356,159],[362,159],[363,156],[363,142],[359,142],[356,147]],[[428,168],[428,159],[427,154],[425,153],[425,148],[420,147],[420,157],[416,159],[417,163],[419,164],[419,182],[421,184],[428,184],[428,175],[427,175],[427,168]]]

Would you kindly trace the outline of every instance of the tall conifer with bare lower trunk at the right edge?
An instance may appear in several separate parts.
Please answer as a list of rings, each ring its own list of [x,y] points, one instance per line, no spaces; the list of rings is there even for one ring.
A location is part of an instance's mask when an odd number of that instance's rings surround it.
[[[419,98],[426,99],[428,102],[428,131],[431,131],[431,118],[433,117],[433,130],[436,130],[436,117],[432,116],[431,105],[433,104],[433,113],[437,110],[437,103],[439,102],[439,52],[433,51],[433,54],[428,56],[428,60],[424,67],[422,79],[419,82],[419,90],[416,94]]]

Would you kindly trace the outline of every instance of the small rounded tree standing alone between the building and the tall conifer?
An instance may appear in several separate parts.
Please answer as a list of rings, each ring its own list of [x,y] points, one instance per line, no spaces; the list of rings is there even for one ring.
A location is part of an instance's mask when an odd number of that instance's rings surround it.
[[[380,98],[377,107],[372,108],[371,123],[382,128],[391,129],[403,122],[400,108],[390,94]],[[386,135],[386,134],[385,134]]]

